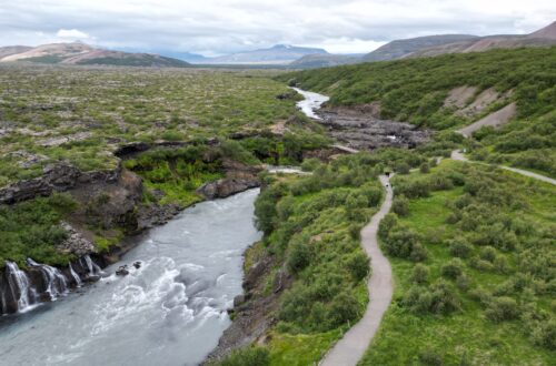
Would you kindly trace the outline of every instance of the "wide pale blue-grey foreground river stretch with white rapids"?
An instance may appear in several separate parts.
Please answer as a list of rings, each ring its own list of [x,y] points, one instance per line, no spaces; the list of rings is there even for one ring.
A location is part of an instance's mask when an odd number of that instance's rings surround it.
[[[1,365],[197,365],[230,325],[258,190],[187,209],[106,277],[0,319]],[[140,262],[140,268],[131,264]],[[130,274],[116,276],[128,264]]]

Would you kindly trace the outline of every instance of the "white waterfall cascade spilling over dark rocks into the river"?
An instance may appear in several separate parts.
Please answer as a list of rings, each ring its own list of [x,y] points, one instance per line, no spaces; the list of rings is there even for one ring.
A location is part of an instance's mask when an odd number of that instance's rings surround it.
[[[20,270],[14,262],[6,262],[0,272],[0,315],[24,313],[40,303],[56,301],[71,288],[80,287],[83,279],[96,279],[100,267],[89,255],[80,257],[68,268],[56,268],[47,264],[27,261]]]

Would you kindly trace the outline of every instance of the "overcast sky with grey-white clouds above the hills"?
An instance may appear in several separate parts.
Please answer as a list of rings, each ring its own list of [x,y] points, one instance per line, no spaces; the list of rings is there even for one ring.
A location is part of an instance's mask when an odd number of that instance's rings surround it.
[[[0,45],[81,40],[217,55],[277,43],[363,53],[439,33],[528,33],[556,0],[0,0]]]

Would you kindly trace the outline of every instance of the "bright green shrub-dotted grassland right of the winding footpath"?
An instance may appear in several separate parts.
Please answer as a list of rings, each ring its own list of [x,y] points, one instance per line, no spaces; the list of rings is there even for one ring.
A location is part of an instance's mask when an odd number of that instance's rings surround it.
[[[556,189],[449,160],[394,187],[395,296],[360,365],[550,364]]]

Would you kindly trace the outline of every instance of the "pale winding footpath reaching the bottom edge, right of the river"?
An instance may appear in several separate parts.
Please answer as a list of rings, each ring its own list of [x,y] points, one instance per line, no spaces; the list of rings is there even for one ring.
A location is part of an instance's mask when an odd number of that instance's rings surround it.
[[[393,191],[389,180],[380,175],[380,183],[386,187],[386,199],[380,210],[361,231],[361,245],[370,258],[373,274],[367,288],[369,304],[363,318],[354,325],[320,362],[321,366],[357,365],[367,350],[370,340],[378,331],[383,315],[390,305],[394,291],[390,263],[378,246],[378,224],[390,211]]]

